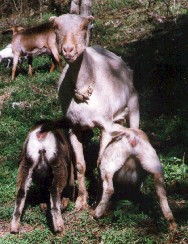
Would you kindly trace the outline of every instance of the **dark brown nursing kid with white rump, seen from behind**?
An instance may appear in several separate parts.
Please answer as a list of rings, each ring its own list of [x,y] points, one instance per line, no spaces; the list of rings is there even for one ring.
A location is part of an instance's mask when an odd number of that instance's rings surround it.
[[[19,232],[20,217],[32,179],[39,184],[49,186],[54,232],[64,232],[61,204],[66,207],[68,199],[74,197],[74,172],[71,157],[65,135],[56,126],[53,128],[50,121],[38,122],[31,128],[23,146],[18,171],[11,233]]]

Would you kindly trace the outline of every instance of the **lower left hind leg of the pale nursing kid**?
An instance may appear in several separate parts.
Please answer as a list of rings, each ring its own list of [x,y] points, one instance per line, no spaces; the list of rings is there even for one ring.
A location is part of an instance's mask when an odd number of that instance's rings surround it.
[[[114,193],[114,186],[113,186],[113,173],[105,173],[105,172],[101,172],[101,177],[102,177],[102,181],[103,181],[103,194],[102,194],[102,198],[101,201],[99,202],[98,206],[96,207],[95,211],[94,211],[94,217],[95,218],[100,218],[105,210],[106,207],[108,206],[108,202],[112,196],[112,194]]]

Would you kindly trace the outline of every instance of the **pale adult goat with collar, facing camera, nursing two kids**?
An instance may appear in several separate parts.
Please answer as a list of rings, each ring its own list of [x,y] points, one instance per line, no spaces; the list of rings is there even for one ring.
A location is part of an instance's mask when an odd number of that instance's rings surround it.
[[[75,14],[50,18],[56,28],[60,50],[68,62],[59,80],[59,99],[64,116],[72,123],[70,140],[79,187],[77,209],[87,205],[88,196],[82,131],[101,129],[99,163],[112,137],[116,132],[121,133],[119,122],[128,117],[130,127],[139,127],[138,96],[132,70],[114,53],[100,47],[86,47],[87,28],[92,19],[92,16]]]

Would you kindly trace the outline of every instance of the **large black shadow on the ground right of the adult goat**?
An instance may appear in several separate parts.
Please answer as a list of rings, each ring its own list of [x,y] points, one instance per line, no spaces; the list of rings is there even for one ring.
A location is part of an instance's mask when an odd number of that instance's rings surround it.
[[[141,128],[156,149],[163,153],[174,148],[180,157],[188,145],[187,27],[188,14],[180,15],[176,21],[158,24],[150,37],[116,47],[134,70]],[[161,125],[156,123],[159,118]],[[160,139],[155,141],[152,134],[158,134]]]

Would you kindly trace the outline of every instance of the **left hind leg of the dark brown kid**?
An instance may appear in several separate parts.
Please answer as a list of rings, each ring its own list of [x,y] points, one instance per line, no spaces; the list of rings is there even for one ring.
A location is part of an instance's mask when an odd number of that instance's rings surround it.
[[[16,203],[10,227],[11,233],[19,232],[20,217],[25,205],[25,199],[30,186],[32,172],[32,168],[26,165],[25,160],[23,160],[20,164],[18,172]]]

